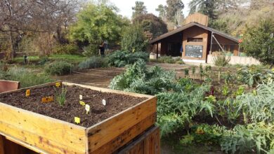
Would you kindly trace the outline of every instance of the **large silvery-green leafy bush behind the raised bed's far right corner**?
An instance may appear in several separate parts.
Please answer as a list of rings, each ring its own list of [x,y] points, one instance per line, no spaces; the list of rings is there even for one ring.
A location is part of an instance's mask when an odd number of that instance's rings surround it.
[[[169,90],[178,90],[174,71],[165,71],[159,66],[148,68],[140,59],[133,65],[126,67],[126,71],[115,76],[110,88],[143,94],[157,94]]]

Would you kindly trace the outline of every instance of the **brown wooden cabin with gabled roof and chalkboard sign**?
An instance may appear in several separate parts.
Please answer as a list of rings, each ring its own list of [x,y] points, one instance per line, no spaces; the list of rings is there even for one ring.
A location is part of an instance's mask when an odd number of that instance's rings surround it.
[[[207,56],[226,51],[239,55],[239,40],[207,27],[208,17],[200,13],[190,15],[186,25],[169,31],[150,41],[150,52],[159,56],[182,57],[184,62],[206,63]]]

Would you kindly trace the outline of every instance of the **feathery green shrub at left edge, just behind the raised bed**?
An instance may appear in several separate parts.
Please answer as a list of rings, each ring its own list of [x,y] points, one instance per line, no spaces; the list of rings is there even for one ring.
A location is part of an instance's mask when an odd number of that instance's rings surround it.
[[[0,75],[2,80],[15,80],[20,82],[20,87],[31,87],[34,85],[41,85],[44,83],[50,83],[53,80],[44,73],[33,73],[18,67],[12,67],[8,71],[2,72]]]

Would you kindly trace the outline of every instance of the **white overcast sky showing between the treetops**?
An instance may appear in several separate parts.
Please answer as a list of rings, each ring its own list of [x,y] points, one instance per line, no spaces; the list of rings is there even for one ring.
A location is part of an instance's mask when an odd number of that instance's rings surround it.
[[[115,4],[119,8],[119,14],[126,16],[128,18],[131,18],[132,15],[132,7],[135,6],[136,0],[110,0],[112,3]],[[148,13],[153,13],[155,15],[158,15],[158,12],[155,10],[159,4],[166,5],[167,0],[140,0],[145,3],[145,6],[148,9]],[[183,3],[185,4],[185,8],[183,8],[183,14],[188,16],[189,8],[188,3],[190,0],[183,0]]]

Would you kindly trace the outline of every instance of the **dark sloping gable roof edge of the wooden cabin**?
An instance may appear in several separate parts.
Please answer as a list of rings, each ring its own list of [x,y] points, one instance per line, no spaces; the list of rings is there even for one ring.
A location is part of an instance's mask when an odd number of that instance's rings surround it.
[[[152,44],[152,43],[158,42],[158,41],[162,40],[163,38],[167,38],[167,37],[169,37],[171,35],[177,34],[178,32],[181,32],[181,31],[183,31],[185,29],[188,29],[190,27],[193,27],[193,26],[201,27],[202,29],[207,29],[208,31],[211,31],[211,32],[213,32],[215,34],[223,36],[224,38],[228,38],[231,41],[235,41],[236,43],[239,43],[238,38],[235,38],[234,36],[230,36],[230,35],[228,35],[226,33],[218,31],[216,29],[213,29],[213,28],[210,28],[210,27],[206,27],[206,26],[201,25],[201,24],[199,24],[197,22],[190,22],[189,24],[183,25],[182,27],[180,27],[178,29],[174,29],[173,31],[169,31],[166,34],[162,34],[161,36],[158,36],[157,38],[152,39],[149,43]]]

